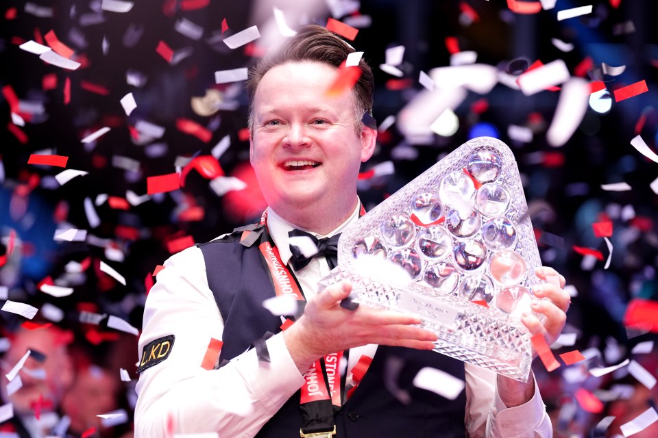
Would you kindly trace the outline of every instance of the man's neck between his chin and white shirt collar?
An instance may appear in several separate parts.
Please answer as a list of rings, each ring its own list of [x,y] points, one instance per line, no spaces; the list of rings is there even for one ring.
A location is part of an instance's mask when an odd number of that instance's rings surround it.
[[[290,222],[295,227],[326,235],[330,231],[337,229],[345,220],[348,220],[358,203],[358,198],[354,198],[354,202],[350,203],[350,207],[339,209],[336,205],[328,205],[327,207],[317,208],[314,206],[297,206],[297,207],[284,207],[284,206],[270,206],[276,214],[282,219]]]

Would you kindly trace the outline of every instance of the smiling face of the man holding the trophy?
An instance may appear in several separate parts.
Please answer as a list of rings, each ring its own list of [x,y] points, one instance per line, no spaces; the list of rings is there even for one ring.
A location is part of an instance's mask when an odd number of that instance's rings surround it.
[[[326,95],[337,71],[291,62],[271,68],[258,84],[251,162],[267,203],[279,213],[314,202],[356,203],[359,166],[372,153],[375,133],[356,132],[352,92]]]

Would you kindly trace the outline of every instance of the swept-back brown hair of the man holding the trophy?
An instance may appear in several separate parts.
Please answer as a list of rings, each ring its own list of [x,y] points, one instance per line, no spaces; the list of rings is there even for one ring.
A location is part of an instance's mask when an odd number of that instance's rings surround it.
[[[260,79],[270,68],[286,64],[287,62],[324,62],[338,68],[355,50],[339,36],[319,25],[307,25],[282,45],[270,49],[256,66],[249,69],[245,88],[249,99],[249,128],[253,127],[253,103],[256,88]],[[374,79],[370,66],[361,58],[358,66],[361,67],[361,77],[354,85],[354,115],[356,116],[356,129],[361,132],[363,123],[361,118],[365,112],[372,115],[372,94]]]

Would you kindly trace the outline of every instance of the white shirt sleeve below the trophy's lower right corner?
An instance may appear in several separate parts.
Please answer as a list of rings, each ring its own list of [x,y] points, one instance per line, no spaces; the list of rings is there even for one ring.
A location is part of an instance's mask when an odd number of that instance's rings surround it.
[[[508,408],[496,391],[496,373],[470,363],[466,370],[465,424],[472,438],[550,438],[552,424],[535,381],[528,402]]]

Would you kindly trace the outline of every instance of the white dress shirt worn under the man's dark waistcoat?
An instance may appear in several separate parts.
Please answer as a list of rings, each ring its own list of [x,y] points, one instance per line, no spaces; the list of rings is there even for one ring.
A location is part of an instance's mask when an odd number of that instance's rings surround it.
[[[358,219],[358,208],[340,227],[340,233]],[[293,228],[271,209],[267,227],[283,263],[291,253],[288,232]],[[136,391],[135,437],[163,437],[167,423],[176,433],[218,432],[220,437],[253,437],[304,383],[290,357],[282,334],[267,340],[270,362],[258,361],[248,350],[219,370],[201,363],[211,338],[222,339],[223,320],[208,287],[202,251],[193,246],[169,257],[147,297],[139,355],[154,339],[175,335],[169,357],[141,373]],[[292,268],[290,268],[292,270]],[[324,257],[294,272],[306,298],[315,294],[317,281],[329,273]],[[373,357],[375,345],[350,350],[347,370],[361,355]],[[465,364],[465,424],[470,437],[552,436],[550,418],[535,385],[535,396],[519,407],[507,408],[496,392],[496,374]],[[352,376],[348,374],[348,383]],[[439,435],[437,434],[437,437]]]

